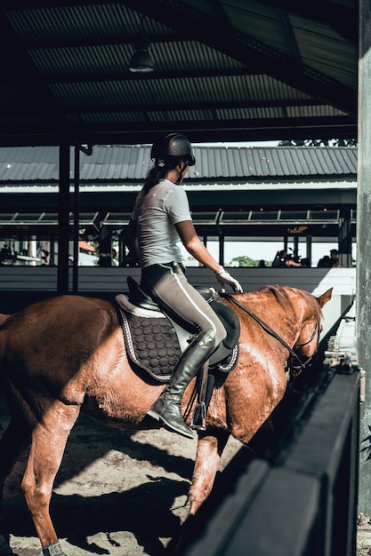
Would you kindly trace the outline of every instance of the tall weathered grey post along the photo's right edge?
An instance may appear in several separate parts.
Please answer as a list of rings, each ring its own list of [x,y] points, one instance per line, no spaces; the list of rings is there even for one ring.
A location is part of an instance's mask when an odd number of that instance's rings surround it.
[[[371,0],[359,1],[359,156],[357,195],[357,350],[366,371],[366,400],[361,406],[360,445],[371,426]],[[371,465],[359,465],[359,511],[371,513]]]

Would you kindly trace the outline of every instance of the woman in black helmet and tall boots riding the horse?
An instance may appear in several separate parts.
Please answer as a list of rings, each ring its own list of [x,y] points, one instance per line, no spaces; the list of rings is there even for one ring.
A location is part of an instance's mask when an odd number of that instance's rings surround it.
[[[207,301],[187,281],[179,240],[192,257],[214,271],[219,283],[228,283],[240,293],[242,288],[206,250],[193,226],[188,198],[181,187],[195,164],[189,139],[169,133],[154,143],[151,158],[154,167],[136,199],[125,242],[141,263],[141,288],[195,338],[182,353],[164,393],[148,415],[161,420],[171,431],[192,438],[181,417],[181,398],[198,369],[226,337],[226,331]]]

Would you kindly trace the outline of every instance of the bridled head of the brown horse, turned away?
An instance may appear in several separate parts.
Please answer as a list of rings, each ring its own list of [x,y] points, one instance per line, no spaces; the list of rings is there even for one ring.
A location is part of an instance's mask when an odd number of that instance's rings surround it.
[[[308,367],[319,347],[319,335],[322,327],[322,307],[331,299],[333,289],[327,290],[319,298],[308,292],[301,291],[305,299],[305,309],[302,318],[302,328],[294,344],[295,356],[292,356],[290,367],[295,377],[302,369]]]

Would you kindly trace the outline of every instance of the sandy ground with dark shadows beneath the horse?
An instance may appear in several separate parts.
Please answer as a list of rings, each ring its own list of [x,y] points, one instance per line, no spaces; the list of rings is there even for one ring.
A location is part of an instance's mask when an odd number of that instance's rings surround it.
[[[7,422],[0,393],[0,435]],[[229,441],[221,469],[240,446]],[[79,417],[52,495],[52,520],[64,552],[68,556],[164,554],[188,513],[196,447],[196,439],[164,429],[129,433]],[[27,456],[26,452],[20,458],[5,484],[4,531],[15,554],[40,556],[41,545],[20,490]]]

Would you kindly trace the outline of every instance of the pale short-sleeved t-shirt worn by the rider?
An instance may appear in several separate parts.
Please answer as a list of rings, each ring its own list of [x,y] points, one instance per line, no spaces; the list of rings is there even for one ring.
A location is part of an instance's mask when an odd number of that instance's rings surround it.
[[[141,268],[172,261],[181,263],[180,237],[174,224],[192,219],[182,186],[164,179],[147,195],[141,190],[131,218],[137,224]]]

